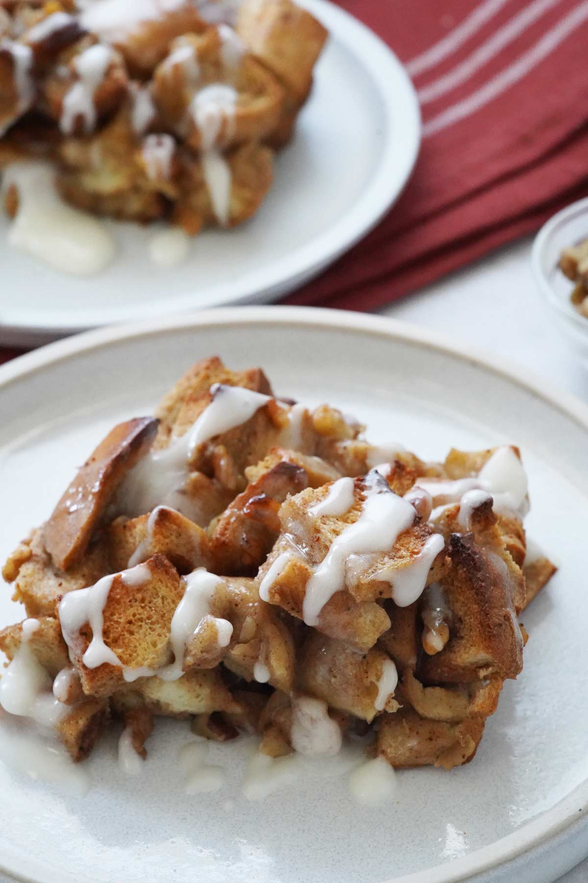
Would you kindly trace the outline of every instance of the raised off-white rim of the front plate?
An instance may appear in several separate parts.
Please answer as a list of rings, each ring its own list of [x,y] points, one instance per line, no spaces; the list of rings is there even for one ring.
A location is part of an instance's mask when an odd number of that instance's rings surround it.
[[[572,419],[588,434],[588,405],[574,394],[559,389],[552,381],[544,380],[540,374],[534,374],[510,359],[504,359],[498,354],[493,355],[462,342],[455,342],[450,336],[390,317],[306,306],[217,307],[170,316],[163,321],[148,320],[86,331],[84,334],[50,343],[0,366],[0,397],[4,389],[10,387],[12,383],[26,381],[28,377],[41,374],[48,366],[73,360],[88,351],[100,351],[111,345],[123,344],[141,337],[156,337],[173,334],[175,331],[185,333],[190,328],[238,326],[243,329],[256,325],[323,328],[331,332],[358,331],[387,338],[391,343],[398,341],[425,346],[478,366],[486,372],[497,374],[505,381],[516,384]],[[436,865],[383,883],[458,883],[469,879],[472,875],[498,871],[502,865],[515,860],[527,861],[532,858],[534,850],[545,846],[548,841],[554,841],[564,834],[569,837],[577,831],[578,826],[584,826],[588,830],[586,808],[588,808],[588,779],[577,785],[550,809],[540,813],[513,833],[450,863]],[[2,857],[0,862],[4,864]],[[5,870],[14,874],[9,868]]]

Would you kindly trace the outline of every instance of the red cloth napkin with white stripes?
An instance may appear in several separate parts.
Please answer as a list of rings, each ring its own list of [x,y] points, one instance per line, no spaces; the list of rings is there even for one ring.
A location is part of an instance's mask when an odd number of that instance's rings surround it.
[[[421,155],[383,222],[288,303],[374,309],[588,194],[588,0],[340,3],[406,64]]]

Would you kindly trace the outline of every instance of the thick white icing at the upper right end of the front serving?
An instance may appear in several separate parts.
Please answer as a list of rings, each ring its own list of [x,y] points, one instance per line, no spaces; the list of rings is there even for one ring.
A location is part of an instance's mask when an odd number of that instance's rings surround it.
[[[483,490],[492,495],[495,512],[523,517],[527,511],[528,486],[525,470],[509,445],[496,448],[477,477],[455,480],[418,479],[416,486],[428,490],[437,509],[441,505],[460,502],[469,491]]]

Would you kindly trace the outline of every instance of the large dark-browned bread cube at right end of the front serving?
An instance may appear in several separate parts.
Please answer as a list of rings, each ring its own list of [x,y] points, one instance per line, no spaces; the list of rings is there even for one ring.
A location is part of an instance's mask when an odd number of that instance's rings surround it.
[[[477,546],[472,534],[450,538],[450,570],[443,589],[452,613],[450,640],[421,658],[424,683],[469,683],[490,675],[516,678],[523,639],[502,558]]]

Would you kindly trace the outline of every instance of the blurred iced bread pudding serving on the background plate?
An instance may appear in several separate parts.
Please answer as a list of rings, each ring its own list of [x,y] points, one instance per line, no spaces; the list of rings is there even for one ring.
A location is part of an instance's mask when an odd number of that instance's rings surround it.
[[[5,0],[5,210],[28,211],[49,180],[96,215],[190,235],[242,223],[272,185],[326,35],[291,0]]]

